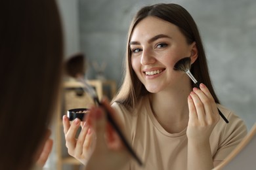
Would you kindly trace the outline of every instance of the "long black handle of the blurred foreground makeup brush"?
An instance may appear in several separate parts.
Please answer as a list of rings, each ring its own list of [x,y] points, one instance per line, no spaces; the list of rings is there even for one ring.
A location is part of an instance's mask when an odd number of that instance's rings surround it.
[[[131,145],[127,142],[127,139],[125,139],[125,136],[123,135],[123,133],[121,132],[119,126],[117,126],[116,122],[114,121],[114,118],[112,117],[112,115],[110,114],[110,112],[108,111],[108,109],[102,105],[102,103],[100,103],[100,101],[98,100],[97,97],[95,97],[95,103],[97,103],[100,107],[103,107],[104,110],[106,111],[107,114],[107,118],[108,118],[108,122],[110,122],[110,124],[112,125],[112,127],[114,127],[114,129],[116,130],[117,134],[119,135],[121,141],[123,142],[123,144],[125,145],[125,147],[127,148],[128,152],[131,154],[131,156],[133,156],[133,158],[135,158],[135,160],[137,160],[137,162],[139,163],[140,166],[143,165],[142,161],[140,160],[140,158],[137,156],[137,154],[135,153],[135,151],[133,150],[133,148],[131,148]]]

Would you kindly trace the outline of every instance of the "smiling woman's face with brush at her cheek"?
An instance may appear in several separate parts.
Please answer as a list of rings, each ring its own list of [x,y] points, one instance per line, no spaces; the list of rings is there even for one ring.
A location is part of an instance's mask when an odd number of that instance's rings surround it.
[[[133,70],[152,93],[181,83],[182,75],[186,74],[174,71],[173,67],[179,59],[191,55],[194,45],[186,42],[176,25],[152,16],[136,25],[129,44]]]

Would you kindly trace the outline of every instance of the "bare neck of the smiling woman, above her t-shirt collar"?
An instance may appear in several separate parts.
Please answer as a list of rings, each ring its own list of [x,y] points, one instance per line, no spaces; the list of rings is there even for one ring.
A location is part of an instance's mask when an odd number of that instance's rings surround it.
[[[169,133],[179,133],[188,124],[188,95],[191,86],[177,86],[150,94],[152,112]]]

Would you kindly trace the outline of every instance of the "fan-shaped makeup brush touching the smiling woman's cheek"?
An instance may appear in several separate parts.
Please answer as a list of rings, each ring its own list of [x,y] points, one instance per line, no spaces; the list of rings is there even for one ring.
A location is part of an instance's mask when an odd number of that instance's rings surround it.
[[[183,73],[186,73],[190,77],[190,79],[194,82],[195,86],[200,89],[200,82],[198,82],[198,80],[196,80],[196,78],[194,78],[194,76],[190,72],[190,67],[191,67],[190,62],[191,62],[190,57],[182,58],[179,61],[177,61],[177,63],[175,63],[173,69],[175,71],[182,71]],[[223,120],[228,124],[228,120],[223,115],[221,110],[219,110],[219,108],[217,109],[219,111],[219,115],[221,115]]]

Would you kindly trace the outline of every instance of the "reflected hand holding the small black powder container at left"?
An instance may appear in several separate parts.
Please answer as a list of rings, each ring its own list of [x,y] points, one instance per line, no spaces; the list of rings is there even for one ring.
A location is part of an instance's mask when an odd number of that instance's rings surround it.
[[[64,134],[68,154],[79,160],[83,165],[87,163],[92,152],[95,135],[87,122],[81,122],[76,118],[71,124],[68,116],[63,116]],[[77,130],[81,125],[82,129],[76,138]]]

